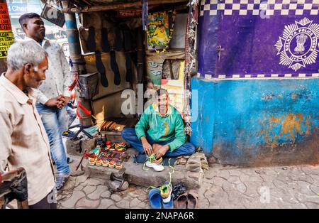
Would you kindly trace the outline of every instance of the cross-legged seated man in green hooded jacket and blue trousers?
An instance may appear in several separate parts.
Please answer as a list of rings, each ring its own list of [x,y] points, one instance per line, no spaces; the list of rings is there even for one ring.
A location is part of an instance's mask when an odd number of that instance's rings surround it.
[[[157,90],[155,104],[150,104],[140,117],[135,129],[125,128],[122,136],[140,154],[162,156],[188,156],[195,146],[186,142],[181,114],[169,104],[165,89]]]

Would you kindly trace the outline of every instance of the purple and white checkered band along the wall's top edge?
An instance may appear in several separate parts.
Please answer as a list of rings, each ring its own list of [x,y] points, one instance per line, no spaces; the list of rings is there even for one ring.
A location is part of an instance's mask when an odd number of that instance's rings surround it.
[[[302,16],[319,14],[319,0],[201,0],[200,16],[208,13],[210,16],[218,14],[265,16],[274,14],[288,16]]]

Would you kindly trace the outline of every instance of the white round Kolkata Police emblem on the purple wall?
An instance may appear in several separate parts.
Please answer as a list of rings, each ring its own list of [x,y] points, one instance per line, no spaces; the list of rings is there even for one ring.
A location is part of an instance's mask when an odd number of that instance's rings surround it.
[[[280,55],[279,64],[294,71],[316,62],[319,53],[319,24],[308,18],[285,26],[282,36],[275,44]]]

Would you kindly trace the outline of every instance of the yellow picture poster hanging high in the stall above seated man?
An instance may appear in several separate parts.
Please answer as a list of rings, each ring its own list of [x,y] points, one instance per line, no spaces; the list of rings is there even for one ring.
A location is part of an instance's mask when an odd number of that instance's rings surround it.
[[[165,48],[169,43],[169,16],[167,12],[148,14],[147,49]]]

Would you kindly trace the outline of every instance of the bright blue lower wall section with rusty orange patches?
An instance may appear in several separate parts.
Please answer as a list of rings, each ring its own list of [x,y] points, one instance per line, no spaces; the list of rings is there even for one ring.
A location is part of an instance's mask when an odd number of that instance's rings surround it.
[[[193,78],[191,90],[198,90],[191,142],[206,155],[234,165],[318,162],[318,78]]]

